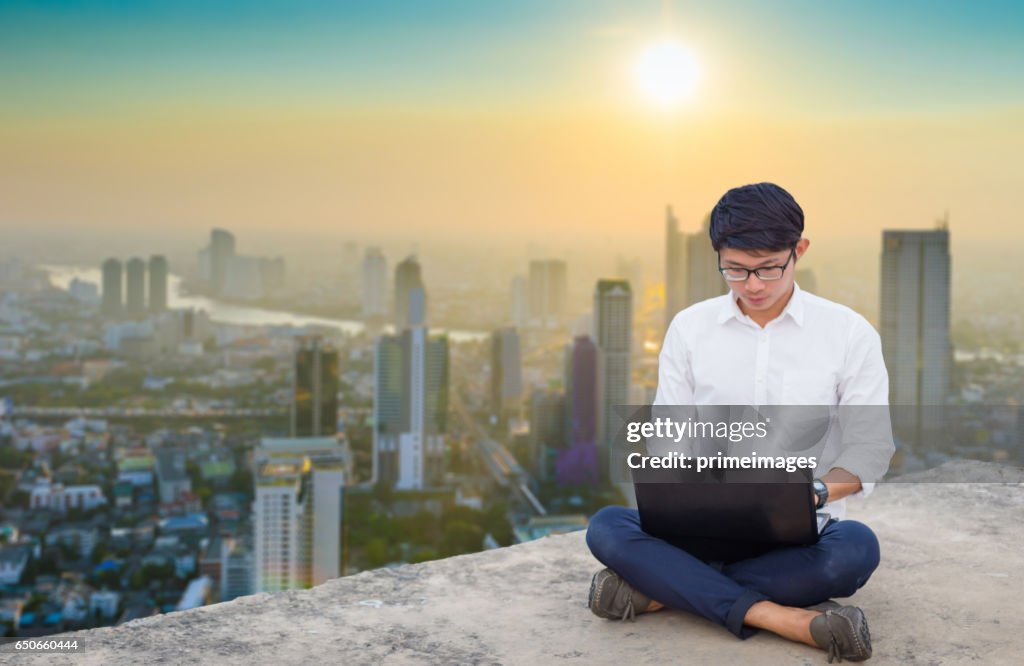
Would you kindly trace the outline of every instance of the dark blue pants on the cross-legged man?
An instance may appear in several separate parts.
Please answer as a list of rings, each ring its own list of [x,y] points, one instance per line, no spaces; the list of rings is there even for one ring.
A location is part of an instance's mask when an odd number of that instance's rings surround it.
[[[856,592],[879,566],[879,540],[856,521],[833,521],[812,546],[778,548],[731,565],[708,564],[640,529],[640,515],[606,506],[590,521],[587,545],[605,567],[652,599],[695,613],[740,638],[758,601],[812,606]]]

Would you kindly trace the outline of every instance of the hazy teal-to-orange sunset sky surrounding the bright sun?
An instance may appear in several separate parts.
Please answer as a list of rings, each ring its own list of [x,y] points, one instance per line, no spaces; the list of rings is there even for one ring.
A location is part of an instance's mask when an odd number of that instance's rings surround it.
[[[681,108],[632,68],[670,37]],[[774,180],[809,235],[1024,239],[1012,2],[3,2],[0,227],[660,251]]]

